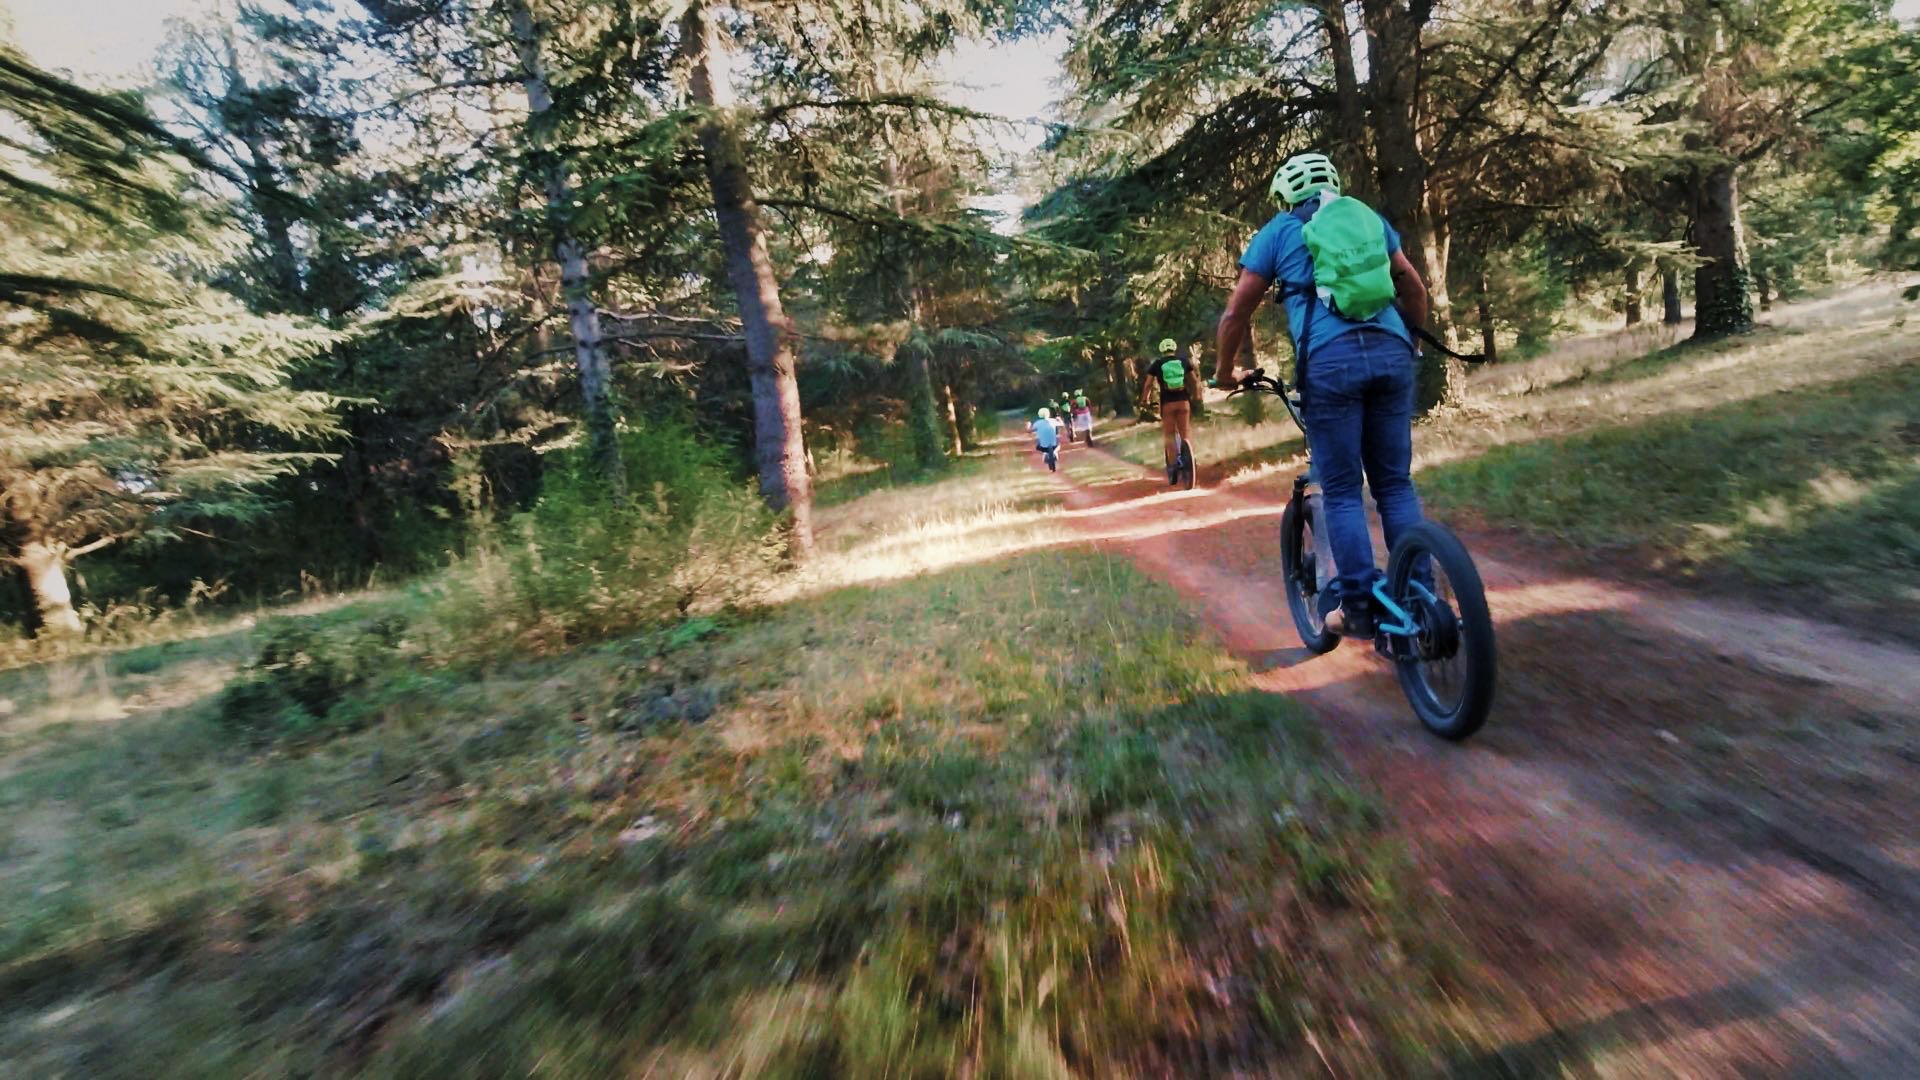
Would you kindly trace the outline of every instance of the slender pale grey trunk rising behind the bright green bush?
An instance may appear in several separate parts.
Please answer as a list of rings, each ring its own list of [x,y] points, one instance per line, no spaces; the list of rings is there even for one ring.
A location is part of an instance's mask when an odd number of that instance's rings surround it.
[[[540,25],[526,0],[507,0],[515,46],[520,54],[520,85],[526,88],[526,142],[534,150],[547,190],[547,223],[553,229],[553,261],[561,265],[561,294],[566,298],[566,325],[574,336],[574,367],[588,417],[588,455],[616,502],[626,500],[626,465],[614,430],[612,369],[601,338],[599,311],[589,290],[588,256],[574,234],[574,190],[566,179],[566,158],[549,150],[553,142],[553,86],[540,60]]]

